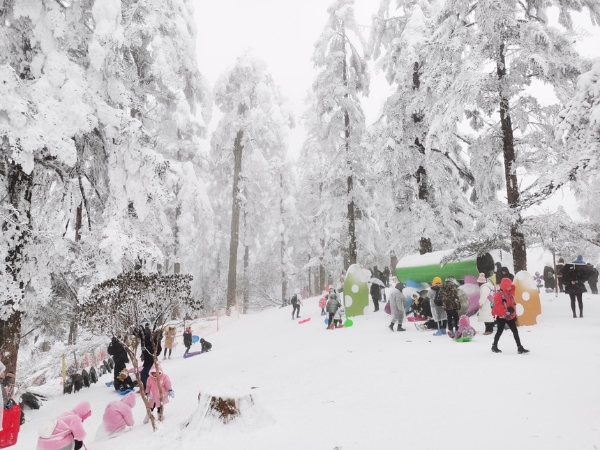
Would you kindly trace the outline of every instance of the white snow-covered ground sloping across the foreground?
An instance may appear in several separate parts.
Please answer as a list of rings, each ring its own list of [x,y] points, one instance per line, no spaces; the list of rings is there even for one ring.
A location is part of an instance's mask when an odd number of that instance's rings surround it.
[[[573,319],[565,294],[542,294],[538,325],[521,327],[528,355],[510,331],[502,354],[493,335],[456,343],[432,332],[390,332],[383,308],[354,326],[326,330],[318,299],[304,301],[298,324],[291,307],[243,316],[212,334],[213,351],[183,359],[180,344],[163,368],[175,398],[152,433],[136,425],[95,442],[104,407],[118,400],[100,382],[27,411],[17,449],[33,449],[47,418],[89,400],[89,450],[126,449],[600,449],[600,296],[584,295],[584,318]],[[200,333],[197,333],[200,334]],[[254,406],[227,425],[196,417],[198,393],[252,394]]]

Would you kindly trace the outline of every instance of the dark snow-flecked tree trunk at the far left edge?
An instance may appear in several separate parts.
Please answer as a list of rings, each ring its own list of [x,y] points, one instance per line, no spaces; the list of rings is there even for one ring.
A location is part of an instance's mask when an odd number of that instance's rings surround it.
[[[18,299],[3,298],[4,307],[12,308],[22,301],[25,293],[25,283],[21,279],[21,268],[24,262],[24,250],[28,243],[29,226],[31,224],[31,195],[33,187],[33,175],[23,172],[20,165],[10,160],[5,160],[5,168],[8,180],[8,201],[13,208],[10,219],[2,224],[2,232],[12,235],[5,258],[5,270],[11,275],[14,285],[17,287]],[[17,309],[4,320],[0,320],[0,355],[6,370],[16,374],[17,360],[19,355],[19,344],[21,339],[22,312]]]

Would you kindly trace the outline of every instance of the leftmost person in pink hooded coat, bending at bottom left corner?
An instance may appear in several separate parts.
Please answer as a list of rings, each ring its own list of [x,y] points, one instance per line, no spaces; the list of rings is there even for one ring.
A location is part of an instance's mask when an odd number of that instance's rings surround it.
[[[37,450],[79,450],[83,447],[83,421],[92,415],[90,402],[79,403],[72,411],[58,416],[52,435],[38,439]]]

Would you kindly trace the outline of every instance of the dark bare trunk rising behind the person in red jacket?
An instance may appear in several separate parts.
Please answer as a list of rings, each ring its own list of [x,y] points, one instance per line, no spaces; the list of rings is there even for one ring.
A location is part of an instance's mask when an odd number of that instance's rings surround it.
[[[504,179],[506,181],[506,198],[508,206],[512,210],[518,211],[521,202],[521,193],[519,192],[517,169],[514,166],[516,161],[515,143],[512,120],[510,117],[509,100],[504,94],[502,87],[504,78],[506,77],[504,51],[504,44],[501,44],[499,49],[499,59],[496,64],[496,73],[499,81],[498,95],[500,97],[500,125],[502,128],[502,150],[504,153]],[[521,213],[517,212],[510,227],[515,273],[520,270],[527,270],[527,247],[525,245],[525,235],[522,231],[522,225],[523,220],[521,218]]]

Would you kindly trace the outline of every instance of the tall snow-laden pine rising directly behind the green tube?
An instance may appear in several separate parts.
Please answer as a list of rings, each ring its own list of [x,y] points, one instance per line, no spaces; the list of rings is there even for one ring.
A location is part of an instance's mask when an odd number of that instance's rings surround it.
[[[466,138],[457,133],[435,145],[426,138],[439,98],[428,77],[434,63],[427,42],[443,3],[382,0],[373,16],[370,52],[376,70],[396,88],[365,139],[378,149],[374,165],[384,174],[379,195],[389,249],[427,253],[456,245],[476,216],[468,197],[474,179],[464,156]]]

